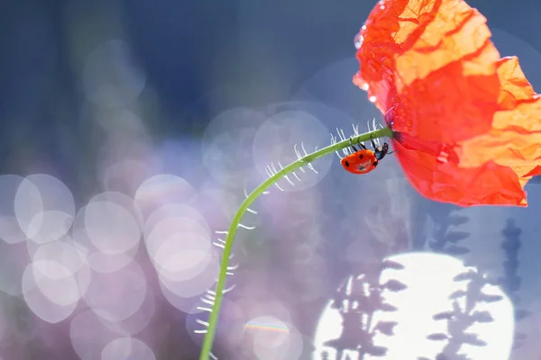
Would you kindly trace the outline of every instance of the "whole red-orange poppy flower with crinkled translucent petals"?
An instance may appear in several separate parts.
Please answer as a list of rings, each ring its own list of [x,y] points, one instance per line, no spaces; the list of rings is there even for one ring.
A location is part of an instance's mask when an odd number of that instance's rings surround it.
[[[359,72],[395,133],[409,182],[461,206],[527,206],[541,175],[541,97],[518,58],[500,58],[486,19],[462,0],[388,0],[357,35]]]

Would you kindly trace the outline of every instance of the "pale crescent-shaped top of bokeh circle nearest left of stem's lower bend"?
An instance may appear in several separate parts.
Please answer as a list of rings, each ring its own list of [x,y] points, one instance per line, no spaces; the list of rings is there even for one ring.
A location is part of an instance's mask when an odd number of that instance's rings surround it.
[[[135,202],[146,217],[164,204],[188,202],[194,195],[194,188],[182,177],[162,174],[152,176],[139,186]]]

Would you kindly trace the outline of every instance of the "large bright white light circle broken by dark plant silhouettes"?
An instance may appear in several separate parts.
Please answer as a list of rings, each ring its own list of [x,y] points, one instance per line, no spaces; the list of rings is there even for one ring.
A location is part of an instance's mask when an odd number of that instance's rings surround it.
[[[454,257],[431,253],[408,253],[390,257],[405,266],[402,270],[385,270],[381,275],[381,284],[396,279],[408,288],[399,293],[386,291],[385,302],[399,310],[394,312],[378,312],[374,322],[379,320],[398,321],[394,336],[377,336],[376,345],[387,347],[386,359],[417,359],[418,356],[435,358],[445,346],[445,341],[434,341],[426,338],[436,332],[446,332],[446,320],[434,320],[433,316],[442,311],[452,309],[449,295],[464,289],[467,282],[455,282],[454,276],[467,270],[463,262]],[[513,307],[509,298],[498,288],[486,286],[484,293],[497,293],[503,296],[500,302],[487,305],[478,304],[475,310],[487,310],[494,319],[491,323],[475,325],[469,330],[479,334],[479,338],[488,343],[487,347],[462,347],[461,352],[474,359],[507,360],[513,340],[514,320]],[[316,350],[314,360],[320,360],[326,351],[329,358],[334,358],[335,349],[326,347],[326,341],[340,338],[343,331],[342,316],[336,309],[326,306],[318,322],[315,337]],[[355,354],[349,354],[357,360]],[[378,357],[368,356],[367,359]]]

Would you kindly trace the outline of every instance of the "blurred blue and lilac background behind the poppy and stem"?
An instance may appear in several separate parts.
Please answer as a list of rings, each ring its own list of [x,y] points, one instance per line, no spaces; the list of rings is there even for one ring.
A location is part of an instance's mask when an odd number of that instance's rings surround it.
[[[244,191],[296,144],[381,119],[352,83],[374,4],[3,0],[1,358],[198,358],[219,231]],[[541,5],[469,4],[539,91]],[[336,157],[297,175],[245,215],[216,356],[496,360],[515,338],[510,358],[541,358],[541,182],[527,209],[460,209],[422,199],[391,156],[367,176]],[[423,256],[381,262],[408,252]],[[404,293],[400,320],[377,322],[370,293]],[[454,315],[433,320],[427,302]]]

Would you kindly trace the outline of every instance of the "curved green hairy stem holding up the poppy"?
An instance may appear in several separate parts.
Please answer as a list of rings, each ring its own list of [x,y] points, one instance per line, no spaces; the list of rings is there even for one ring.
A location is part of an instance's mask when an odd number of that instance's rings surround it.
[[[368,141],[370,139],[378,139],[382,137],[392,137],[392,130],[390,130],[390,128],[373,130],[371,132],[366,132],[364,134],[354,136],[352,139],[353,144],[356,144],[358,142]],[[210,318],[208,320],[207,332],[205,335],[205,340],[203,341],[203,348],[201,349],[201,355],[199,356],[199,360],[208,360],[210,356],[212,343],[215,337],[216,324],[220,315],[220,307],[222,306],[222,301],[224,300],[225,280],[227,277],[225,273],[227,271],[227,266],[229,266],[229,257],[231,256],[231,251],[233,249],[234,235],[239,226],[239,223],[243,219],[244,212],[246,212],[248,207],[261,195],[261,193],[265,192],[265,190],[267,190],[273,184],[276,184],[285,175],[291,174],[299,167],[306,166],[307,164],[320,157],[325,157],[326,155],[334,153],[336,150],[347,148],[348,146],[350,146],[350,140],[345,139],[344,141],[329,145],[326,148],[321,148],[311,154],[308,154],[306,157],[300,157],[297,161],[292,162],[288,166],[280,169],[279,172],[272,175],[261,185],[255,188],[255,190],[253,190],[252,193],[250,193],[241,204],[239,210],[235,212],[233,221],[231,222],[231,226],[229,227],[227,236],[225,237],[224,253],[222,255],[222,263],[220,265],[220,274],[218,275],[218,284],[216,284],[215,289],[215,302],[212,307],[212,312],[210,313]]]

